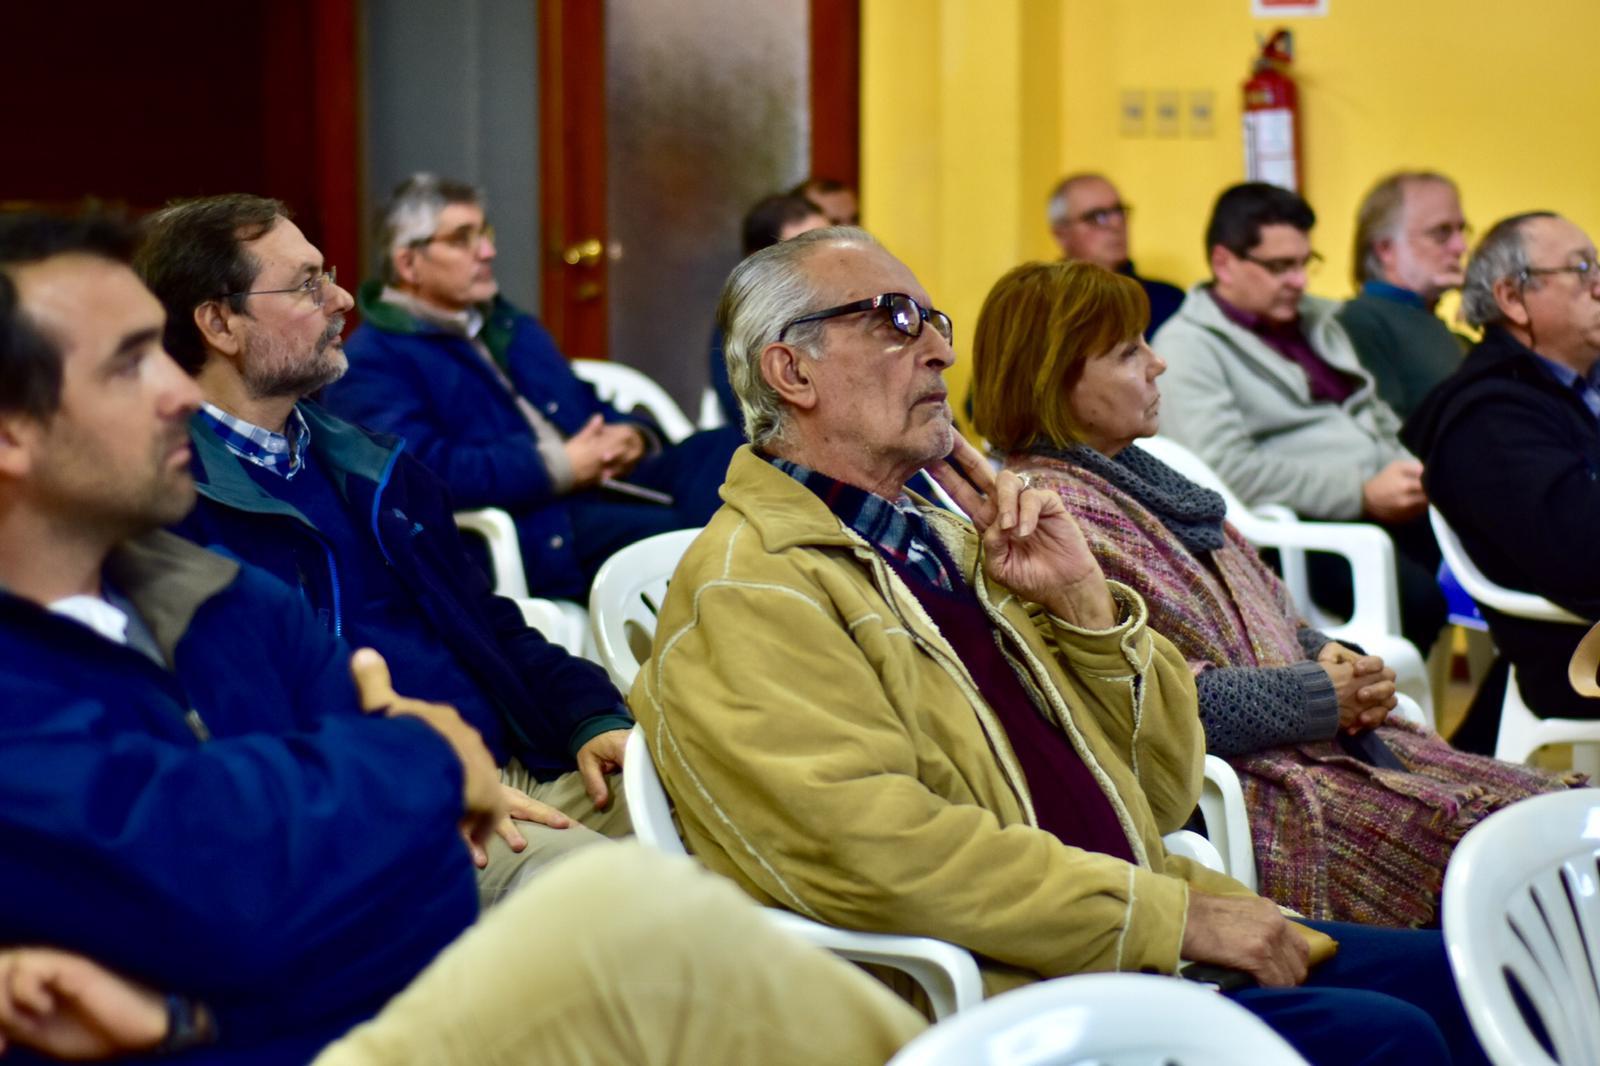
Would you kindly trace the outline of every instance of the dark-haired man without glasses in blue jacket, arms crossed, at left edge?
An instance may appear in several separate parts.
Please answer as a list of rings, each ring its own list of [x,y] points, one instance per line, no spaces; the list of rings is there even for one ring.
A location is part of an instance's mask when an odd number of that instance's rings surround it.
[[[130,250],[0,222],[0,943],[203,994],[234,1039],[294,1018],[288,1061],[472,920],[458,823],[502,799],[450,707],[360,714],[280,583],[147,535],[194,501],[200,395]]]

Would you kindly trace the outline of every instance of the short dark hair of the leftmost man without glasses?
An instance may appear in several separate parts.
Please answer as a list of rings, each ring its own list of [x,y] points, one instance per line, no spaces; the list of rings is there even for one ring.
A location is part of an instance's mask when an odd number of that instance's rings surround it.
[[[126,222],[96,210],[0,213],[0,411],[50,418],[61,407],[61,346],[22,307],[13,271],[64,254],[126,264],[136,240]]]

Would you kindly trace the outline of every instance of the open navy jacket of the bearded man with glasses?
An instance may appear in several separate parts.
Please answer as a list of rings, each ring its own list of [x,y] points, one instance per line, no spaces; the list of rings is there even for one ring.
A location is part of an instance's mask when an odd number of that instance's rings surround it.
[[[402,445],[302,402],[310,451],[333,477],[400,583],[498,712],[472,725],[498,762],[515,755],[539,776],[576,767],[597,733],[632,727],[616,687],[597,664],[568,655],[498,597],[456,531],[438,479]],[[189,424],[200,503],[178,527],[189,539],[270,571],[339,634],[346,605],[323,535],[251,479],[202,418]],[[378,651],[389,653],[379,647]],[[421,699],[432,691],[406,691]]]

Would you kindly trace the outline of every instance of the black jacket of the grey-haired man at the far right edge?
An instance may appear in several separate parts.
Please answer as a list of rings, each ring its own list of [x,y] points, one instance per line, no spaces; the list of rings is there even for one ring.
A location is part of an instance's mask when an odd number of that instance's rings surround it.
[[[1600,618],[1600,423],[1539,357],[1490,327],[1400,434],[1427,498],[1490,581]],[[1579,626],[1483,608],[1538,714],[1594,717],[1566,683]]]

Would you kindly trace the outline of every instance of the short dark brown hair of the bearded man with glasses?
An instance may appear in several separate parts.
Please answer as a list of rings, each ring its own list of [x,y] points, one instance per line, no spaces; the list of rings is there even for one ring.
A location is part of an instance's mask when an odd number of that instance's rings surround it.
[[[190,375],[205,367],[195,307],[226,293],[248,291],[261,264],[245,243],[286,218],[290,210],[280,200],[230,192],[173,200],[144,221],[144,242],[133,267],[166,309],[166,351]],[[243,296],[229,296],[227,304],[245,311]]]

